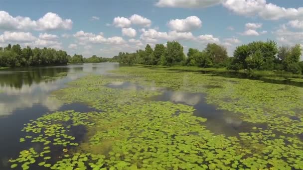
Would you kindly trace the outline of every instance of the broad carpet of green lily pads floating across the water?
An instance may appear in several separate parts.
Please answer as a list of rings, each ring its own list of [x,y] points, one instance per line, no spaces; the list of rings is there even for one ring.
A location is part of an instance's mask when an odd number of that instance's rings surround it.
[[[115,74],[120,77],[86,76],[55,91],[53,96],[64,103],[82,102],[100,111],[53,112],[25,124],[20,142],[43,150],[21,151],[10,160],[11,168],[303,169],[302,88],[141,67],[122,67]],[[140,88],[113,88],[113,82]],[[205,93],[208,103],[255,127],[238,136],[214,134],[204,126],[207,119],[193,114],[192,105],[150,100],[165,88]],[[87,131],[83,139],[73,134],[79,126]]]

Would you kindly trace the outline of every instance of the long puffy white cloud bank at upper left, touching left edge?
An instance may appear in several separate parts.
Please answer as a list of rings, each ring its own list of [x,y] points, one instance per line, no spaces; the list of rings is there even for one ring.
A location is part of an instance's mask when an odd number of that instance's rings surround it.
[[[0,11],[0,29],[2,30],[37,30],[48,31],[57,29],[71,29],[71,19],[62,19],[58,14],[48,12],[38,20],[29,17],[11,16],[6,11]]]

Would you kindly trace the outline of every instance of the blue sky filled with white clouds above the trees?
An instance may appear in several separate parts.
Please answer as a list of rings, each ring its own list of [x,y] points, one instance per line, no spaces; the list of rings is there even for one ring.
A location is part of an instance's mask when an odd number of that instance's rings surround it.
[[[0,46],[113,57],[179,41],[233,55],[251,41],[303,46],[302,0],[0,0]]]

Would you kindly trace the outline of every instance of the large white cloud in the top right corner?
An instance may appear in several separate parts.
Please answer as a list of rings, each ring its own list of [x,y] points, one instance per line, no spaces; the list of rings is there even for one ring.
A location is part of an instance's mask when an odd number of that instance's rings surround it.
[[[223,5],[244,16],[260,16],[269,20],[303,18],[303,7],[285,8],[267,3],[266,0],[225,0]]]

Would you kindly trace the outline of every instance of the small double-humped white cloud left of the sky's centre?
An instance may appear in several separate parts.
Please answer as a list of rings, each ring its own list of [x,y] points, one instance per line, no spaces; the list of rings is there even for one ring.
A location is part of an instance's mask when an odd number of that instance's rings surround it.
[[[138,14],[134,14],[129,18],[118,16],[115,17],[113,21],[113,25],[120,28],[129,28],[132,24],[150,27],[152,25],[152,21]]]

